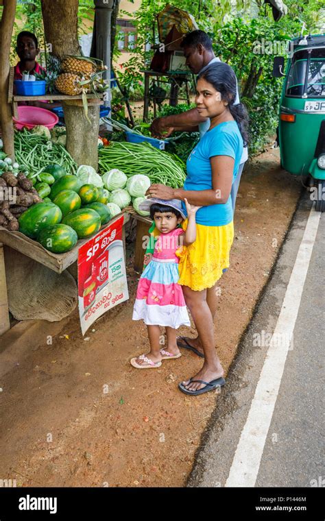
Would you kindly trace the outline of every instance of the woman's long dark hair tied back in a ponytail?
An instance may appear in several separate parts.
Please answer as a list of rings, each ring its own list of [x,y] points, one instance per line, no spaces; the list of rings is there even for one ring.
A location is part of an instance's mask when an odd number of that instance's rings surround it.
[[[213,85],[221,94],[221,100],[228,101],[230,114],[237,121],[244,145],[248,143],[248,112],[242,103],[234,105],[237,96],[236,75],[230,65],[220,62],[208,66],[208,69],[199,75]]]

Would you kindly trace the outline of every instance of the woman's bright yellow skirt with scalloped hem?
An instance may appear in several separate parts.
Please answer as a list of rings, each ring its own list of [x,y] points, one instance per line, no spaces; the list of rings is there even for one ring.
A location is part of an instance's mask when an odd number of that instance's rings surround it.
[[[187,219],[182,228],[186,230]],[[196,241],[181,247],[176,255],[180,258],[178,284],[194,291],[211,288],[229,267],[229,254],[234,240],[234,223],[224,226],[196,225]]]

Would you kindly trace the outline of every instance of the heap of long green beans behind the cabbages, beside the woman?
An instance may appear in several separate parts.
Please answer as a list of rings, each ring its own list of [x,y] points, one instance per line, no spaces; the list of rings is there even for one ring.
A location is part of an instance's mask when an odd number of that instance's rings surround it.
[[[128,177],[143,173],[152,183],[163,183],[180,188],[186,178],[184,162],[178,156],[163,152],[150,143],[126,143],[111,141],[108,147],[99,149],[99,173],[117,168]]]

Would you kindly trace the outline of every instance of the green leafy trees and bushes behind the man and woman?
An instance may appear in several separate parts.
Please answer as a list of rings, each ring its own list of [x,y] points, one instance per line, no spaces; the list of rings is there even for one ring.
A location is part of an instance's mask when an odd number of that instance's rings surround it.
[[[277,23],[272,8],[262,0],[256,0],[256,3],[237,0],[236,5],[230,0],[219,0],[217,8],[214,0],[195,3],[178,0],[177,3],[178,8],[192,14],[199,28],[209,34],[215,55],[237,73],[241,101],[250,114],[250,154],[263,150],[278,123],[282,80],[272,77],[274,56],[285,56],[286,41],[300,34],[303,22],[305,34],[324,32],[322,0],[285,0],[285,3],[289,12]],[[132,73],[147,68],[152,59],[153,51],[145,51],[145,45],[157,43],[156,15],[165,5],[165,0],[143,0],[141,9],[136,12],[138,38]],[[276,44],[269,49],[268,42]],[[128,64],[126,66],[128,69]],[[170,113],[168,111],[169,106],[163,105],[160,115]]]

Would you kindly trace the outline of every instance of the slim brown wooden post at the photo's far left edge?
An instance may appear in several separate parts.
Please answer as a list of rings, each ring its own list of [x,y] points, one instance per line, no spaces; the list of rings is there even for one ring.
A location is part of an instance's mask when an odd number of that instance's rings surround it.
[[[10,43],[15,13],[16,0],[5,1],[0,23],[0,124],[3,149],[12,160],[14,160],[14,123],[12,121],[12,107],[8,104],[8,84]]]

